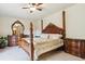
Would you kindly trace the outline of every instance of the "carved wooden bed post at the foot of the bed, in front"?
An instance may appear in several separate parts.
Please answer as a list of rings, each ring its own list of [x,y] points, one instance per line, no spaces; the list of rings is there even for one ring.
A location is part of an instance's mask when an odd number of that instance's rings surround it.
[[[33,25],[30,23],[30,42],[31,42],[31,61],[33,61],[34,48],[33,48]]]

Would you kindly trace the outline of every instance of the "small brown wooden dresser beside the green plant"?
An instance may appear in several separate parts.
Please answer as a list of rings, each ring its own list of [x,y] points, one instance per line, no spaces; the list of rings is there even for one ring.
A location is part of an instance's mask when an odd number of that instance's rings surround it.
[[[8,46],[13,47],[17,46],[17,36],[16,35],[8,35]]]

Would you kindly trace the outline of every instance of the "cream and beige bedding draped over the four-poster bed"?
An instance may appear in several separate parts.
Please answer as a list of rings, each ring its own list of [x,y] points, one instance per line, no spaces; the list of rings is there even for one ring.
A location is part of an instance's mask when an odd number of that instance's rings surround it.
[[[29,44],[29,53],[30,53],[30,39],[24,38]],[[34,60],[38,59],[39,55],[45,53],[47,51],[57,49],[63,44],[61,39],[44,39],[44,38],[34,38]]]

